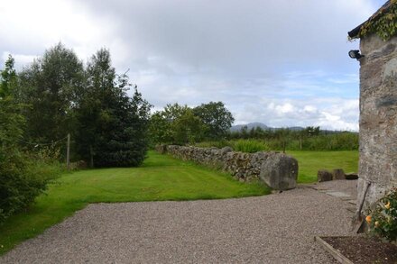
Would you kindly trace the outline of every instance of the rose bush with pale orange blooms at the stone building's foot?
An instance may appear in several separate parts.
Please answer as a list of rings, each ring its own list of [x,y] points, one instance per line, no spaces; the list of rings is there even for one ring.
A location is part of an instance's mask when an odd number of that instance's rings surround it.
[[[368,210],[365,220],[371,233],[387,241],[397,241],[397,187],[392,188]]]

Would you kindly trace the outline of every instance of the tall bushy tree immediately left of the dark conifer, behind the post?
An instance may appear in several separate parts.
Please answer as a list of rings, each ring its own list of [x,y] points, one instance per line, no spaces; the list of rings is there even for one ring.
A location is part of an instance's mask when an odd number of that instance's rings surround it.
[[[24,68],[20,79],[19,99],[30,106],[25,112],[27,137],[38,142],[65,137],[83,84],[83,65],[76,53],[59,43]]]

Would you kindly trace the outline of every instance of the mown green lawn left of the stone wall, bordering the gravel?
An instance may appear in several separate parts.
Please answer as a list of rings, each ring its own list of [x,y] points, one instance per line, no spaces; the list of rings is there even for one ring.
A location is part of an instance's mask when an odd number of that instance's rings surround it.
[[[57,179],[31,208],[0,227],[0,255],[90,203],[221,199],[269,192],[261,183],[240,183],[224,173],[150,152],[141,168],[81,170]]]

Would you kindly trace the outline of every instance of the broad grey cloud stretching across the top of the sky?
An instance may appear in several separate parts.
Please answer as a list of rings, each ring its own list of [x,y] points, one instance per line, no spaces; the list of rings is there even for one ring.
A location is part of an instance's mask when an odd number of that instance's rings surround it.
[[[368,1],[346,2],[91,1],[90,8],[113,14],[133,57],[161,56],[198,71],[213,67],[246,77],[301,63],[348,65],[346,32],[370,12]]]

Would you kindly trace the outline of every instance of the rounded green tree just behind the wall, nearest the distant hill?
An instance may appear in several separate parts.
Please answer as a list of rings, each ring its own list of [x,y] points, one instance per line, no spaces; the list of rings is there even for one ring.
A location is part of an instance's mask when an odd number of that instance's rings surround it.
[[[199,105],[193,109],[193,112],[208,126],[206,136],[210,140],[225,138],[232,123],[235,122],[235,118],[222,102]]]

